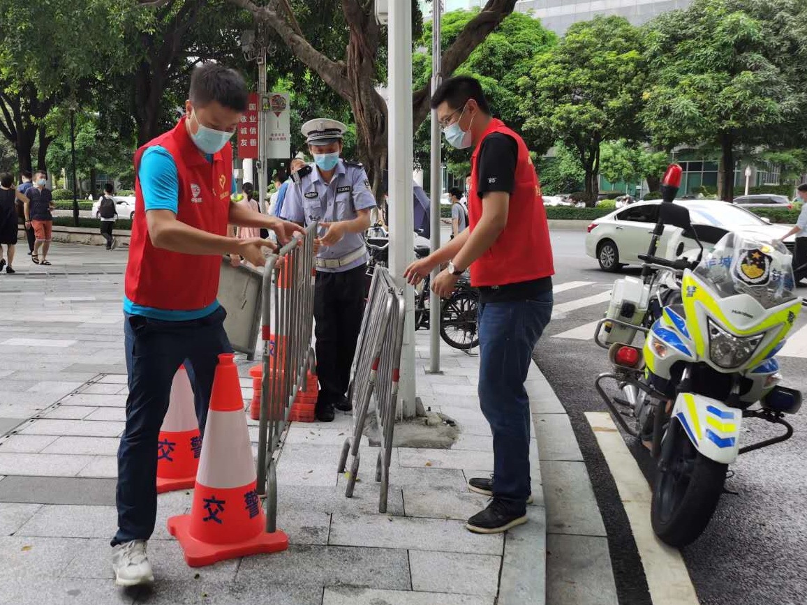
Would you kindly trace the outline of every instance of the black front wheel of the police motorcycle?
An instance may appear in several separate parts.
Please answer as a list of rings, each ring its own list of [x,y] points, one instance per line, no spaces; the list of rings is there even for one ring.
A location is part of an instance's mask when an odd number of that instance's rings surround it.
[[[680,548],[698,539],[723,493],[727,465],[695,449],[673,420],[664,437],[653,485],[653,531],[665,544]]]

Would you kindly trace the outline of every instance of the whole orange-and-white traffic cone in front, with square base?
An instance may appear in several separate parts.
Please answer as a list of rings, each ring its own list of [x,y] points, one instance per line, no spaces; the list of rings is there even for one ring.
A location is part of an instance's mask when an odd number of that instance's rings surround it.
[[[289,545],[285,533],[265,531],[233,357],[231,353],[220,355],[215,369],[190,515],[168,519],[168,531],[182,545],[191,567],[275,553]]]

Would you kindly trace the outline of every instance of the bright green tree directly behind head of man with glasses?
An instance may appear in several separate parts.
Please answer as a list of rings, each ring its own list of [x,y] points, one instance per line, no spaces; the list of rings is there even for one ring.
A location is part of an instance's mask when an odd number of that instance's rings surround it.
[[[442,48],[449,48],[457,40],[463,29],[471,19],[477,15],[476,11],[454,10],[442,16],[441,43]],[[415,44],[416,48],[423,48],[412,56],[412,81],[414,86],[428,87],[432,77],[432,22],[424,24],[423,35]],[[493,114],[503,119],[509,127],[521,131],[524,117],[519,111],[520,97],[518,81],[521,77],[529,76],[533,57],[537,52],[556,44],[557,37],[554,32],[541,26],[538,19],[533,19],[524,13],[508,15],[495,31],[487,35],[482,44],[460,65],[454,75],[473,76],[482,83],[485,97],[491,104]],[[429,165],[429,152],[431,149],[431,119],[430,117],[420,124],[415,135],[416,162],[420,165]],[[545,152],[546,147],[533,149],[536,152]],[[468,152],[454,149],[449,144],[443,144],[443,158],[449,168],[466,170],[470,167]],[[462,172],[458,172],[462,174]]]

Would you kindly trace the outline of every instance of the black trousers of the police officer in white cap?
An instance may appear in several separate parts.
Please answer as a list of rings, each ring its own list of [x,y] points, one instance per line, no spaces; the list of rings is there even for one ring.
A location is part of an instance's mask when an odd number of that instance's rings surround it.
[[[341,273],[316,272],[314,319],[316,374],[321,403],[337,403],[347,393],[350,366],[362,329],[366,265]]]

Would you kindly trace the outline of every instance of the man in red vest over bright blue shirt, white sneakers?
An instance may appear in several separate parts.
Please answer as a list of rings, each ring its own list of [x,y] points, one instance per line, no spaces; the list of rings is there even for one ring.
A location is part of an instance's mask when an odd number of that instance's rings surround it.
[[[247,106],[244,80],[208,63],[194,69],[186,115],[135,154],[135,217],[123,297],[129,396],[118,450],[119,586],[153,582],[146,540],[157,516],[157,439],[181,364],[194,385],[204,431],[220,353],[232,348],[216,301],[222,256],[265,264],[260,238],[228,237],[228,223],[266,227],[285,244],[297,228],[231,202],[232,147]]]

